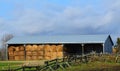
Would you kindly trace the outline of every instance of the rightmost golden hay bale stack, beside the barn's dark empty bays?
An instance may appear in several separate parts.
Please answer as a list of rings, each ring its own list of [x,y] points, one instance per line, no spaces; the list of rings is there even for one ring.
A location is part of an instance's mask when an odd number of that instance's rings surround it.
[[[63,57],[62,45],[45,45],[44,46],[44,59],[52,60]]]

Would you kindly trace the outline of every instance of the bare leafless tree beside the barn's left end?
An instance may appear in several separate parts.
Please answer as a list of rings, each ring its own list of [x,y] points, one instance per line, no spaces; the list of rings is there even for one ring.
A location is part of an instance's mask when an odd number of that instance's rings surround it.
[[[6,42],[8,40],[10,40],[11,38],[13,38],[13,35],[12,34],[5,34],[3,35],[2,39],[1,39],[1,50],[0,50],[0,53],[1,53],[1,60],[5,60],[6,59]]]

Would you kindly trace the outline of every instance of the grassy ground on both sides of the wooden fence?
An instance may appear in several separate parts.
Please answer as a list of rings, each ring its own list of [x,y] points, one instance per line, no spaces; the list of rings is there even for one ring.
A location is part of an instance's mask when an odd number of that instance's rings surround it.
[[[43,65],[44,61],[0,61],[0,70],[8,69],[9,66],[11,69],[18,68],[24,63],[29,62],[39,62]],[[67,68],[66,71],[119,71],[120,63],[111,63],[111,62],[89,62],[87,64],[74,65],[70,68]],[[59,69],[58,71],[63,71]]]

